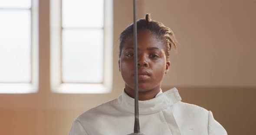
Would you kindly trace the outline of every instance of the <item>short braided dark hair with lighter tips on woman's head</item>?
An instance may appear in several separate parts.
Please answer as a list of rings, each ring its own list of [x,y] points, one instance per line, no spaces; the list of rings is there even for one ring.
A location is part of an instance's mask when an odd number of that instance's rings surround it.
[[[150,14],[146,14],[145,19],[138,19],[137,21],[137,30],[143,30],[147,29],[154,33],[156,38],[160,40],[165,45],[165,55],[167,61],[170,57],[171,47],[174,46],[174,49],[177,50],[176,46],[176,38],[174,35],[174,32],[164,26],[163,23],[152,21]],[[127,39],[131,38],[133,36],[133,23],[130,24],[128,27],[125,28],[123,32],[121,32],[119,37],[119,58],[121,57],[121,50],[123,48],[124,42],[127,41]]]

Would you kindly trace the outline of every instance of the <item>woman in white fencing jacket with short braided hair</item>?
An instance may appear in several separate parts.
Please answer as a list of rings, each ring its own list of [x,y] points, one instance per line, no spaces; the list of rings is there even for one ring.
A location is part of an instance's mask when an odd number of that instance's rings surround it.
[[[162,93],[161,81],[170,67],[170,28],[149,14],[137,21],[138,90],[141,132],[145,135],[227,135],[202,107],[181,102],[176,88]],[[128,135],[134,124],[133,24],[120,35],[119,71],[125,81],[121,95],[76,118],[69,135]]]

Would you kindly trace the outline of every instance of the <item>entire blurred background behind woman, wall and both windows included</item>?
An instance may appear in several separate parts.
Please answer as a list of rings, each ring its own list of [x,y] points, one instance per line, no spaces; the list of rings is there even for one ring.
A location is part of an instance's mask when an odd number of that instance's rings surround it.
[[[121,94],[118,37],[133,22],[132,0],[8,1],[0,135],[68,135],[77,116]],[[229,135],[255,134],[256,0],[137,0],[137,18],[146,13],[178,41],[162,90],[211,110]]]

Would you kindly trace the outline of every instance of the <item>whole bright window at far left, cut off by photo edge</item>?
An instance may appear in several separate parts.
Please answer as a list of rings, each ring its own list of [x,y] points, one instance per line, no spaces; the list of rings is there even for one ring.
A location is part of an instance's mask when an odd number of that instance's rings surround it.
[[[0,0],[0,93],[38,87],[36,0]]]

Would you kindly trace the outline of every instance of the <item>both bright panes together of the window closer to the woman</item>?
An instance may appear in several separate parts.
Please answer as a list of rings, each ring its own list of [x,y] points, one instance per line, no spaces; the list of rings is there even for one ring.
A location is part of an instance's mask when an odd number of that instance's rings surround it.
[[[62,82],[102,83],[104,0],[62,0]]]

